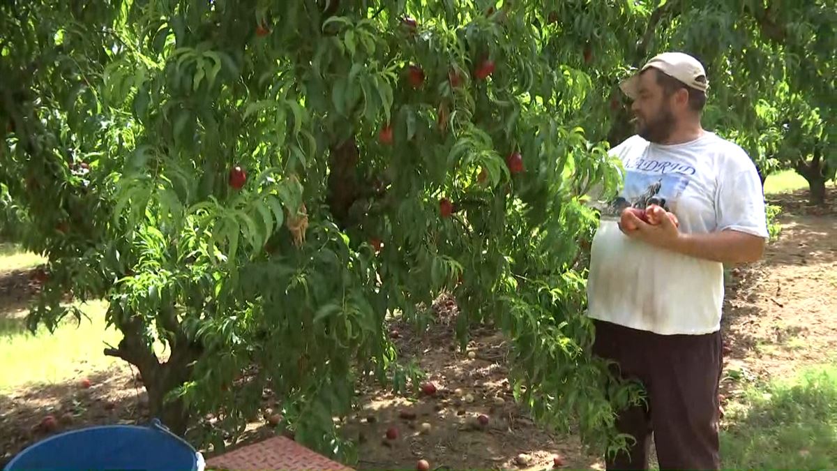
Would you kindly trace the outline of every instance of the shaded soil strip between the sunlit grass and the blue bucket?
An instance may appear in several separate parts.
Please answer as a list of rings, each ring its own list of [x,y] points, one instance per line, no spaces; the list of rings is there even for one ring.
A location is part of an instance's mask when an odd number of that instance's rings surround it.
[[[120,370],[98,371],[80,380],[34,384],[0,394],[0,468],[33,443],[60,432],[94,425],[148,422],[145,389]],[[53,416],[57,427],[42,424]]]

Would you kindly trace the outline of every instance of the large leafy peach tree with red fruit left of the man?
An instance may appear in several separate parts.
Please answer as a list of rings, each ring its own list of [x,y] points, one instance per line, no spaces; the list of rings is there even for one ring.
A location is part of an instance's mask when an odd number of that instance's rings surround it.
[[[345,453],[388,318],[442,292],[512,340],[542,422],[619,446],[638,391],[589,355],[588,190],[651,14],[483,0],[8,2],[0,182],[49,258],[28,318],[105,299],[151,413],[223,448],[259,414]],[[626,46],[625,44],[629,44]],[[615,130],[615,131],[614,131]],[[407,379],[410,381],[407,381]],[[414,391],[414,390],[413,390]],[[202,432],[203,431],[203,432]],[[205,432],[205,433],[204,433]]]

